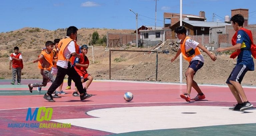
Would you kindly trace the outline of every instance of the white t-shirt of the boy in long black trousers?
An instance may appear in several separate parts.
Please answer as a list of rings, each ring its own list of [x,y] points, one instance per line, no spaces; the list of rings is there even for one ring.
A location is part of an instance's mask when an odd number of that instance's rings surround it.
[[[68,36],[67,36],[68,37]],[[58,49],[58,48],[57,48]],[[66,59],[69,59],[71,54],[76,52],[76,48],[75,48],[75,42],[74,41],[71,41],[67,48],[65,48],[64,50],[64,57]],[[68,61],[66,60],[58,60],[57,63],[56,63],[57,66],[60,66],[62,68],[68,68]]]

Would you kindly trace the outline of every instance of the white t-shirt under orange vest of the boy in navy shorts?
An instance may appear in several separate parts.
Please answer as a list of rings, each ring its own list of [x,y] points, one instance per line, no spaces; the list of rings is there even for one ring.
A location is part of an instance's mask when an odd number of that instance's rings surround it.
[[[199,43],[194,41],[193,39],[187,39],[186,42],[185,42],[185,49],[186,49],[186,52],[189,52],[192,48],[195,50],[195,48],[197,47]],[[199,55],[196,55],[195,57],[193,57],[191,59],[191,61],[194,61],[194,60],[200,60],[204,63],[204,58],[201,54]]]

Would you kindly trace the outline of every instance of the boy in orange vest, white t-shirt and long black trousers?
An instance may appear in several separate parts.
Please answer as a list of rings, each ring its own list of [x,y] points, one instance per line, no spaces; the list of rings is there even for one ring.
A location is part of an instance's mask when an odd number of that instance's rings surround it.
[[[65,78],[65,75],[68,75],[71,77],[71,79],[75,82],[75,85],[80,93],[80,100],[83,101],[85,99],[88,99],[92,97],[92,95],[87,94],[86,90],[83,89],[83,85],[80,80],[80,76],[77,74],[74,67],[71,67],[71,62],[74,62],[74,57],[80,58],[79,53],[79,47],[74,42],[74,39],[77,36],[78,29],[74,26],[71,26],[67,29],[67,36],[60,40],[58,44],[58,61],[57,61],[57,76],[55,78],[55,81],[52,83],[50,88],[48,89],[47,93],[44,95],[44,99],[49,102],[55,102],[53,100],[51,94],[55,91],[56,88],[58,88]]]

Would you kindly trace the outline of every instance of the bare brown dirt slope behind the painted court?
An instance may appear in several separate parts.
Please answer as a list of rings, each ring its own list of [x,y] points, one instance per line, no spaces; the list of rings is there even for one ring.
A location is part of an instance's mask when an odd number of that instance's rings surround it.
[[[49,32],[47,31],[47,33]],[[83,37],[82,35],[80,36]],[[31,50],[27,49],[26,51],[25,49],[22,49],[22,56],[24,61],[22,79],[42,79],[39,69],[37,68],[37,63],[32,63],[32,60],[34,60],[40,53],[40,51],[36,51],[38,48],[32,48]],[[147,52],[154,48],[156,47],[136,48],[132,46],[122,46],[121,48],[115,48],[120,50],[144,50],[146,52],[111,51],[111,79],[155,81],[156,53],[152,53],[150,55],[150,52]],[[92,74],[94,79],[109,79],[109,51],[105,51],[105,47],[103,46],[94,46],[93,49],[93,55],[91,47],[89,48],[87,54],[90,60],[88,72]],[[2,48],[1,51],[3,50],[8,49]],[[157,81],[179,83],[179,57],[172,63],[170,61],[171,58],[173,58],[176,54],[176,43],[173,41],[166,41],[157,51],[159,51]],[[202,54],[204,56],[205,63],[204,66],[196,73],[194,80],[198,84],[225,84],[226,79],[236,64],[236,59],[229,58],[229,55],[218,54],[217,60],[212,61],[206,53],[202,52]],[[0,78],[11,79],[12,76],[11,70],[9,70],[8,57],[1,57],[0,61]],[[256,61],[254,59],[254,63],[255,62]],[[187,67],[188,62],[183,59],[182,83],[186,83],[185,71]],[[256,86],[255,79],[255,71],[248,71],[243,79],[242,84]]]

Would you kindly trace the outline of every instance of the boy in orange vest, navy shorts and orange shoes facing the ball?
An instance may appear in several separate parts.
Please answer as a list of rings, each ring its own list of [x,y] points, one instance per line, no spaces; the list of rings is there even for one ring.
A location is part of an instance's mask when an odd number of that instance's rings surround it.
[[[180,53],[182,53],[183,58],[189,62],[189,66],[186,71],[187,92],[181,94],[180,97],[185,99],[187,102],[190,102],[190,92],[191,87],[193,87],[198,95],[191,100],[197,101],[205,99],[205,95],[202,93],[197,83],[193,80],[197,70],[199,70],[204,65],[204,58],[199,51],[199,48],[206,52],[213,61],[215,61],[217,57],[211,54],[203,45],[187,36],[185,27],[177,27],[175,28],[174,32],[177,34],[181,41],[180,48],[178,49],[175,57],[171,59],[171,62],[173,62],[180,55]]]

